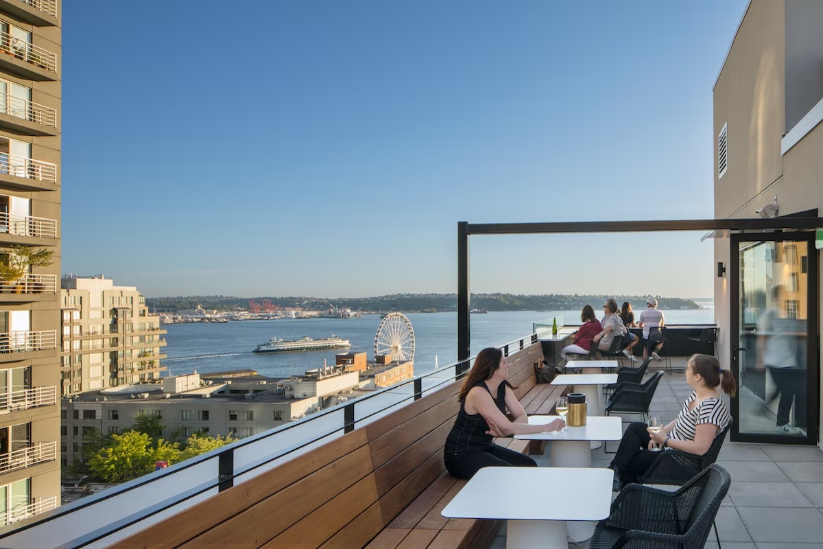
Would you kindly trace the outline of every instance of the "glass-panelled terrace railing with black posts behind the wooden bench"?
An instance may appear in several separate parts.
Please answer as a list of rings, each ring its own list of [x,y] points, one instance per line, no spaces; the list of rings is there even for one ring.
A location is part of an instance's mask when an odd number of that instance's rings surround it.
[[[500,348],[510,357],[536,341],[537,336],[531,334]],[[63,505],[39,521],[0,534],[0,545],[106,547],[134,532],[131,526],[147,528],[158,517],[196,505],[226,487],[245,482],[459,381],[473,358],[441,366],[430,374],[376,390]]]

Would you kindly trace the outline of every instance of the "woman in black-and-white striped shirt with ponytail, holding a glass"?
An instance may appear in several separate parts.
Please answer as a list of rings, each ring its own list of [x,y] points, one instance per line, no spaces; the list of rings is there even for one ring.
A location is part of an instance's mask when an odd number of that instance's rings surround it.
[[[632,423],[625,430],[610,469],[615,472],[614,491],[635,482],[637,477],[657,459],[655,448],[678,449],[703,455],[714,437],[731,421],[720,390],[734,396],[734,376],[723,370],[720,362],[709,355],[694,355],[686,365],[686,383],[695,391],[686,398],[677,419],[658,433],[652,433],[645,423]]]

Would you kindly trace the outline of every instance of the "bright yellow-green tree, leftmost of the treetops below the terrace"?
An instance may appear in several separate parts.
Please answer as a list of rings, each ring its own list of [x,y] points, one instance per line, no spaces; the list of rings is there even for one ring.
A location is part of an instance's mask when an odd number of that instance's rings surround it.
[[[128,430],[111,435],[109,446],[89,459],[91,474],[105,482],[126,482],[154,470],[154,451],[146,433]]]

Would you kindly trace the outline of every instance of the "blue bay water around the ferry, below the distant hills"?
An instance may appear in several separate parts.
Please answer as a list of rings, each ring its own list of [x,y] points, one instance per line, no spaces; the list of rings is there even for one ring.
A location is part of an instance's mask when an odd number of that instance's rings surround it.
[[[714,323],[713,309],[664,311],[668,324]],[[639,311],[635,311],[635,317]],[[512,342],[532,333],[532,323],[557,317],[558,322],[579,324],[579,311],[504,311],[472,314],[472,355],[484,347]],[[457,314],[410,313],[415,333],[415,374],[435,370],[457,361]],[[198,370],[200,373],[225,370],[257,370],[262,375],[286,378],[302,375],[305,370],[319,368],[323,359],[334,364],[335,355],[346,349],[332,351],[300,351],[253,353],[261,343],[272,337],[290,340],[300,337],[329,337],[332,333],[351,342],[348,351],[366,351],[369,361],[374,354],[374,335],[380,323],[379,314],[365,314],[359,319],[277,319],[246,320],[229,323],[165,324],[168,346],[163,349],[169,372],[181,375]]]

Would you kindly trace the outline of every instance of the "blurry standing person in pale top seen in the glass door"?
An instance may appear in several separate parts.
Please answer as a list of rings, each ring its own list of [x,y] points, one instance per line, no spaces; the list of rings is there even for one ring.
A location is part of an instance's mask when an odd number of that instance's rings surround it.
[[[783,435],[802,435],[802,430],[789,424],[792,404],[798,405],[804,391],[806,372],[797,360],[797,319],[788,319],[783,305],[782,285],[771,287],[771,307],[757,319],[756,370],[767,370],[774,380],[774,391],[767,394],[765,405],[769,407],[780,396],[777,405],[775,430]],[[805,329],[805,328],[803,328]],[[795,414],[797,406],[795,406]]]

